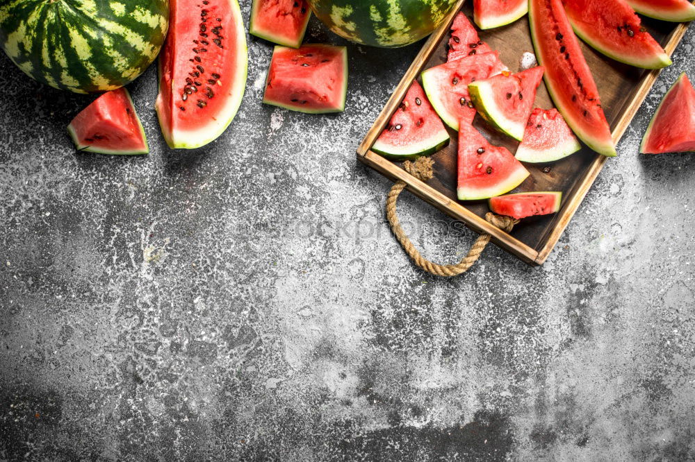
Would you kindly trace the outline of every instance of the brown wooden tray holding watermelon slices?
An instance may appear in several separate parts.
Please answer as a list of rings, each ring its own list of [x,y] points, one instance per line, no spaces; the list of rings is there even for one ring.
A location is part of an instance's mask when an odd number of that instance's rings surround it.
[[[456,13],[462,10],[469,18],[473,17],[472,7],[464,5],[464,3],[465,0],[459,0],[448,20],[427,40],[374,125],[357,148],[357,158],[391,180],[403,180],[409,191],[439,208],[442,212],[463,221],[468,228],[479,233],[491,234],[493,241],[498,246],[525,262],[540,265],[546,261],[553,247],[557,244],[560,235],[577,211],[587,191],[594,184],[598,172],[607,162],[607,157],[594,153],[584,146],[582,151],[552,164],[524,164],[531,175],[515,192],[562,191],[562,209],[557,214],[524,219],[514,227],[511,234],[507,234],[487,223],[483,218],[485,213],[489,212],[486,201],[463,203],[457,200],[457,133],[455,130],[447,127],[451,135],[451,142],[448,147],[432,156],[436,161],[434,178],[426,184],[406,173],[400,163],[392,162],[370,151],[375,139],[379,137],[393,112],[398,108],[411,82],[415,78],[419,78],[425,69],[446,61],[448,31]],[[655,21],[646,17],[642,17],[642,21],[644,27],[662,44],[669,55],[676,49],[678,42],[687,30],[687,24]],[[480,39],[488,42],[493,49],[498,50],[502,61],[513,72],[518,70],[521,56],[525,51],[534,52],[528,17],[524,17],[509,26],[481,31]],[[649,71],[623,65],[594,51],[584,42],[581,42],[581,45],[591,72],[594,74],[614,142],[617,143],[628,128],[642,101],[646,98],[660,71]],[[538,89],[535,104],[546,109],[554,107],[544,84]],[[489,135],[493,144],[506,146],[512,153],[516,151],[517,144],[514,140],[500,135],[486,126],[480,116],[476,116],[474,125],[481,132]],[[637,153],[623,153],[623,155],[637,155]],[[543,171],[543,167],[546,166],[550,166],[550,171]]]

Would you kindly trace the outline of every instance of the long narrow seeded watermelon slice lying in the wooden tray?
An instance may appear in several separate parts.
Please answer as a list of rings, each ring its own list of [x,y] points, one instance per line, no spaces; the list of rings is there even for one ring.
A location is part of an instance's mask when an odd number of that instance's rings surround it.
[[[548,93],[575,134],[591,149],[616,155],[598,89],[560,0],[529,0],[536,58]]]

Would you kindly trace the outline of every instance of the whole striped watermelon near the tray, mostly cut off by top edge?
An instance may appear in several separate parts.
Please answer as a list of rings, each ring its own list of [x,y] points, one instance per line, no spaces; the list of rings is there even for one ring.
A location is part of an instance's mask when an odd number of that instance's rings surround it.
[[[352,42],[395,48],[430,35],[456,0],[307,0],[334,33]]]

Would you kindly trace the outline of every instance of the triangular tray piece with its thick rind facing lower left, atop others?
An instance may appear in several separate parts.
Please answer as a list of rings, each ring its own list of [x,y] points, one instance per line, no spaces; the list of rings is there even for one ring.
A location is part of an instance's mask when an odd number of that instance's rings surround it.
[[[543,66],[537,66],[517,74],[503,72],[471,83],[468,92],[483,119],[521,141],[543,71]]]

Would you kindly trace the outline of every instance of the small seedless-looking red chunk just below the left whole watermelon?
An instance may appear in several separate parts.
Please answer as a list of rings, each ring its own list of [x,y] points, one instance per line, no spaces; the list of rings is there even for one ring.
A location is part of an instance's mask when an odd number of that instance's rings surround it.
[[[128,90],[106,92],[67,126],[79,151],[101,154],[147,154],[147,138]]]

